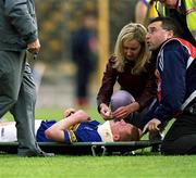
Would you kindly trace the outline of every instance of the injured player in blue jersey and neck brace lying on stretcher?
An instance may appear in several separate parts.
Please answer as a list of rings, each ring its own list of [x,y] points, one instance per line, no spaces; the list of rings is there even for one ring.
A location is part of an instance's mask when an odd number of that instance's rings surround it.
[[[107,120],[103,124],[91,120],[82,110],[69,109],[64,118],[56,120],[35,120],[35,134],[38,142],[113,142],[138,141],[139,130],[121,120]],[[15,122],[0,123],[0,142],[17,141]]]

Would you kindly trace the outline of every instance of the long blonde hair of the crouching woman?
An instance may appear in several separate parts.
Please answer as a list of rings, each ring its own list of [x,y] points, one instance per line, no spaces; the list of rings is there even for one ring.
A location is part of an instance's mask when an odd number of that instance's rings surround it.
[[[123,52],[123,43],[135,39],[140,43],[142,50],[139,52],[138,59],[135,60],[135,65],[131,73],[138,75],[146,71],[145,65],[146,63],[149,63],[150,59],[150,51],[148,50],[147,43],[145,41],[146,34],[146,28],[137,23],[130,23],[121,29],[114,47],[114,56],[117,58],[117,61],[113,65],[113,68],[117,68],[118,72],[124,72],[125,58]]]

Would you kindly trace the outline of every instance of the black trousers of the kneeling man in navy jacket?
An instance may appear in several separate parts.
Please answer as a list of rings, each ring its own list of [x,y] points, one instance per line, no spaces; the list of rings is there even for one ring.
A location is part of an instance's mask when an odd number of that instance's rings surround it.
[[[161,153],[196,154],[196,115],[182,114],[176,118],[163,139]]]

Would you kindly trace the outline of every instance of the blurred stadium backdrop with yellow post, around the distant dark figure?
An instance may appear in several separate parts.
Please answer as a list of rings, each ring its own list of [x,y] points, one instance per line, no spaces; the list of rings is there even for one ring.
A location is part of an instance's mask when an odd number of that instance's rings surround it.
[[[136,0],[36,0],[41,50],[38,59],[29,62],[37,73],[37,107],[74,106],[71,33],[79,24],[84,11],[94,12],[98,20],[98,66],[90,81],[90,105],[96,106],[105,64],[122,26],[134,22],[135,3]]]

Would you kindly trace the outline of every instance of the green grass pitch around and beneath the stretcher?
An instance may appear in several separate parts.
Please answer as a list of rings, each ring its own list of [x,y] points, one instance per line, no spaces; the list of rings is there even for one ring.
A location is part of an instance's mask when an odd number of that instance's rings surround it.
[[[36,118],[61,119],[63,110],[37,110]],[[98,118],[95,109],[87,110],[93,118]],[[7,114],[7,119],[12,119]],[[17,157],[0,154],[0,177],[85,177],[85,178],[189,178],[196,177],[196,156],[152,155],[149,149],[138,150],[136,155]]]

